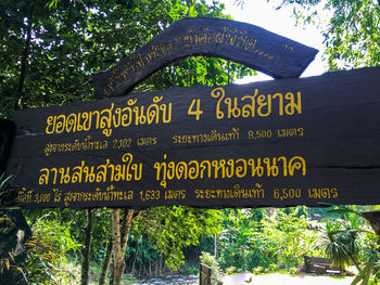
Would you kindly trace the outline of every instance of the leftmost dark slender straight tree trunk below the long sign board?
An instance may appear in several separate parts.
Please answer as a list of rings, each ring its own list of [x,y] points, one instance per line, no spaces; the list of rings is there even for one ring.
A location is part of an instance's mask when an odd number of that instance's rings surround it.
[[[90,251],[91,251],[91,237],[93,230],[93,210],[87,209],[87,228],[85,237],[85,247],[81,251],[81,280],[80,285],[88,285],[89,268],[90,268]]]

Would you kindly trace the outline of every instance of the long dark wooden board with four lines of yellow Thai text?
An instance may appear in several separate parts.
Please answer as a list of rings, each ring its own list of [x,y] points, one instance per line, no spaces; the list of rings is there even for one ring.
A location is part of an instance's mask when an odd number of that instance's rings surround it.
[[[21,111],[24,207],[379,204],[380,68]]]

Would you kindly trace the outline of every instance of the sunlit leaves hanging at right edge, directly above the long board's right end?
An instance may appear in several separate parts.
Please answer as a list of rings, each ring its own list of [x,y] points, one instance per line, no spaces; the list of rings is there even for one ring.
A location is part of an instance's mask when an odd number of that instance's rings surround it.
[[[380,8],[372,0],[330,1],[334,10],[325,42],[331,69],[378,66],[380,63]],[[328,35],[331,36],[328,36]]]

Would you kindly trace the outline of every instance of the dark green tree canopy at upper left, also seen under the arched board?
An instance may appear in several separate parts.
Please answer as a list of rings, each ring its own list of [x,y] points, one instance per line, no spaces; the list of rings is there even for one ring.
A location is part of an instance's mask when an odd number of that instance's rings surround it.
[[[0,2],[0,116],[93,98],[91,74],[106,69],[185,16],[226,17],[216,1],[3,0]],[[227,82],[226,62],[175,63],[139,90]],[[231,65],[230,74],[252,73]]]

